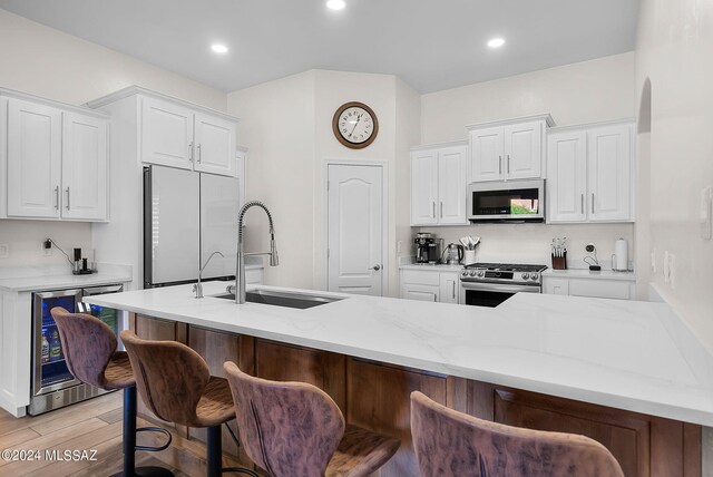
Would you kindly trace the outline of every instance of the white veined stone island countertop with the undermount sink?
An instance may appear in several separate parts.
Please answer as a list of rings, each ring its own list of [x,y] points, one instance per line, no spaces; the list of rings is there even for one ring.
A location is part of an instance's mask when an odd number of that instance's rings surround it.
[[[211,296],[225,284],[205,283],[202,300],[178,285],[85,301],[713,426],[713,357],[665,303],[518,293],[488,309],[314,292],[345,299],[294,310]]]

